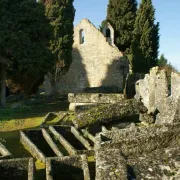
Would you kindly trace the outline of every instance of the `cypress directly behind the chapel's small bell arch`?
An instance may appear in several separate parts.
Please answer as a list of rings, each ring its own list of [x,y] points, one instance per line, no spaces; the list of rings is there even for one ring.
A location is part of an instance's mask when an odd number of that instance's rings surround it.
[[[131,46],[136,10],[136,0],[109,0],[107,21],[114,28],[116,46],[126,54]]]

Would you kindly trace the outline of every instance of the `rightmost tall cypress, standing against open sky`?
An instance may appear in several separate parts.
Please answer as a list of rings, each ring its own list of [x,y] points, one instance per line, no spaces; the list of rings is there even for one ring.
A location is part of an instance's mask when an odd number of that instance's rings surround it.
[[[134,72],[147,73],[157,65],[159,23],[155,24],[155,9],[151,0],[142,0],[134,24],[132,66]]]

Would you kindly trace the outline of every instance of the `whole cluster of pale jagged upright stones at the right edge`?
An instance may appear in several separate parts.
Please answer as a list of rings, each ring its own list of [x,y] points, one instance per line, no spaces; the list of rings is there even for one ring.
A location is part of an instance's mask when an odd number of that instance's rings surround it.
[[[137,81],[135,99],[143,102],[148,114],[157,115],[157,124],[179,123],[180,74],[175,72],[171,74],[170,90],[165,70],[152,68],[150,74]]]

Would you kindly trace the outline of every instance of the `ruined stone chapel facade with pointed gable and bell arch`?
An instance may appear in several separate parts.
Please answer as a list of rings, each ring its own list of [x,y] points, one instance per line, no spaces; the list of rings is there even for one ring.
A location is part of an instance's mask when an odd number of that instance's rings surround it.
[[[107,23],[102,32],[88,19],[74,28],[73,62],[67,74],[60,78],[56,90],[61,94],[83,92],[86,88],[117,87],[123,91],[128,62],[114,45],[114,30]],[[45,92],[52,87],[45,77]]]

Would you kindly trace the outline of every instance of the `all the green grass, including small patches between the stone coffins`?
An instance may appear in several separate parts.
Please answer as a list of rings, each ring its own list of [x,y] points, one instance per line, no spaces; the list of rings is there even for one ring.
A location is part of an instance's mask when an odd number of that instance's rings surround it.
[[[67,101],[41,101],[36,104],[26,104],[21,108],[12,109],[11,102],[7,104],[5,109],[0,109],[0,142],[3,143],[14,157],[32,157],[29,151],[20,143],[19,130],[39,127],[44,117],[49,112],[59,112],[68,110],[69,103]],[[23,103],[22,101],[20,103]],[[46,124],[51,125],[59,121],[59,117],[55,117]],[[45,178],[45,164],[37,160],[36,179]]]

